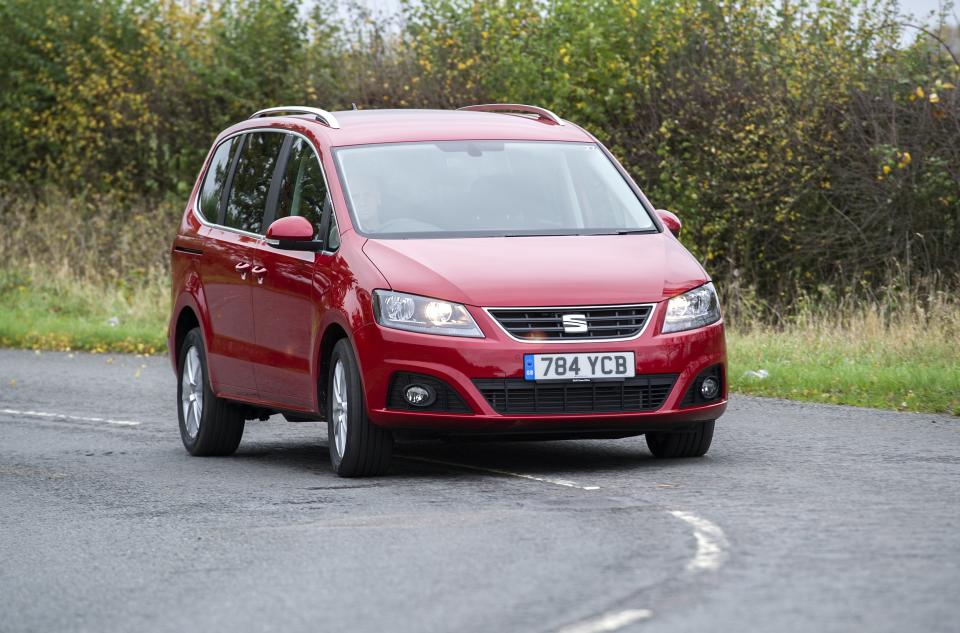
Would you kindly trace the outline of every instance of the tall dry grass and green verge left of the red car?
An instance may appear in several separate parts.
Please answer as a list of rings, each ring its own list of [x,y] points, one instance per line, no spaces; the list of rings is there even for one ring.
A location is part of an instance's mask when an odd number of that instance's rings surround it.
[[[0,345],[160,353],[176,203],[0,195]]]

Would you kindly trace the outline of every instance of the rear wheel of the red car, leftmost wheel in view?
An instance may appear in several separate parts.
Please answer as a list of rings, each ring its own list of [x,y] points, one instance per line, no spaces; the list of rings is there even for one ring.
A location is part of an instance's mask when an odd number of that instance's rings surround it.
[[[243,412],[210,389],[200,328],[187,332],[177,365],[180,439],[191,455],[232,455],[243,437]]]

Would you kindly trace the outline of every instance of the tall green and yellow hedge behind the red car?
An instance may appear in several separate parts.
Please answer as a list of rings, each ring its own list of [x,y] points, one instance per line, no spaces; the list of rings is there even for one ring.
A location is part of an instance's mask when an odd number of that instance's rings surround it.
[[[182,198],[213,135],[267,105],[537,103],[676,210],[721,287],[789,304],[893,261],[955,267],[960,68],[929,38],[901,48],[894,9],[422,0],[390,22],[335,2],[0,0],[0,180]]]

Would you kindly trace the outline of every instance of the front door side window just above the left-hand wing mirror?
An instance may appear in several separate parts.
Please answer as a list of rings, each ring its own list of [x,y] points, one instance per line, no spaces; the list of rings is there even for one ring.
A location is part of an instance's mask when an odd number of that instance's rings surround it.
[[[310,144],[297,138],[290,146],[290,158],[280,184],[277,218],[303,216],[310,220],[316,233],[320,230],[326,203],[327,184],[323,180],[320,161]]]

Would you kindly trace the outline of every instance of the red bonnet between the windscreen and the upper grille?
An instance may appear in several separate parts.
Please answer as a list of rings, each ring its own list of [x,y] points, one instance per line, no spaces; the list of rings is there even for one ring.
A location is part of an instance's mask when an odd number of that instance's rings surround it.
[[[661,301],[709,280],[672,236],[370,239],[393,290],[475,306]]]

